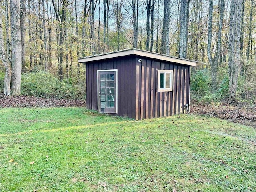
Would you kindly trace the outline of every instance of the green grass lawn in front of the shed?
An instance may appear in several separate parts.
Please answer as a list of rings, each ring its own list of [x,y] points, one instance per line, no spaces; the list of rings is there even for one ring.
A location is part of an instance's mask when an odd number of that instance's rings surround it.
[[[256,191],[248,126],[195,115],[134,121],[85,108],[2,108],[0,118],[3,192]]]

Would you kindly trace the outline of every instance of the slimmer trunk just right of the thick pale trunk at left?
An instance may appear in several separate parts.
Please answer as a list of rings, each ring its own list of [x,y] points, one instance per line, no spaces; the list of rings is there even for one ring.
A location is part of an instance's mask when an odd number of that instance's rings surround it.
[[[26,42],[26,4],[25,0],[20,0],[20,32],[21,32],[21,70],[26,72],[25,42]]]

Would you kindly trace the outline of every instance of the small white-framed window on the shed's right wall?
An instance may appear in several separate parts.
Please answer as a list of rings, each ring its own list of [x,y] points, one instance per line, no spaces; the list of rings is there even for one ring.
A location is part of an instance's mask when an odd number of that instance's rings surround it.
[[[172,91],[173,70],[158,70],[157,91]]]

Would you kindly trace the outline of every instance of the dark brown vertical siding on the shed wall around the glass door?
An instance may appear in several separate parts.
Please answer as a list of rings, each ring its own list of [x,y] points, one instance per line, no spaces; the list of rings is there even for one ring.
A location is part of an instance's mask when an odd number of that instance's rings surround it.
[[[136,57],[124,56],[86,63],[87,108],[98,110],[97,70],[118,70],[117,115],[136,118]]]

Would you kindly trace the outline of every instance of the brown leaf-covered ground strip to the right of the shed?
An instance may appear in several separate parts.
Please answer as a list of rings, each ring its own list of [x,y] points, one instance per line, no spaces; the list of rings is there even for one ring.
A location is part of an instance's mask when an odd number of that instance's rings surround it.
[[[218,117],[256,128],[256,104],[253,106],[242,106],[239,104],[222,103],[214,106],[212,104],[191,102],[190,112]]]

